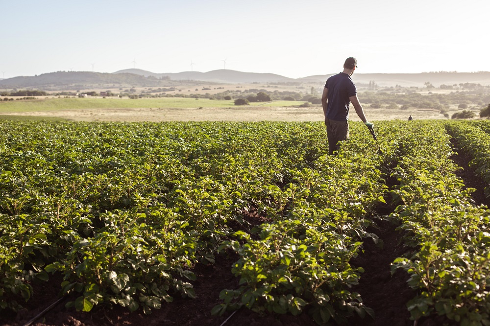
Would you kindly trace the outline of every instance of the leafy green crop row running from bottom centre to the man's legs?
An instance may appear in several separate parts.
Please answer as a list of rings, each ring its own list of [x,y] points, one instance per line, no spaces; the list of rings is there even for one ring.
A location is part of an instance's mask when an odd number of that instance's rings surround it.
[[[224,303],[215,313],[240,306],[293,315],[308,311],[319,324],[372,315],[359,294],[350,292],[362,269],[349,261],[364,238],[377,240],[366,231],[372,223],[367,216],[384,202],[379,167],[396,146],[385,142],[382,155],[362,131],[356,129],[336,157],[323,155],[312,167],[291,170],[285,186],[269,187],[270,199],[259,212],[270,222],[258,225],[256,236],[237,232],[237,240],[221,245],[239,255],[233,273],[241,287],[223,290]]]

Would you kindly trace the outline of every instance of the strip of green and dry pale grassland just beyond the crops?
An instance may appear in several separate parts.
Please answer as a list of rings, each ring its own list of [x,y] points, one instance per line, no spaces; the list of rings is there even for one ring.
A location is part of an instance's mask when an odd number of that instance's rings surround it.
[[[304,101],[275,100],[237,106],[233,100],[207,98],[102,98],[48,97],[33,100],[0,101],[0,119],[42,119],[74,121],[322,121],[321,105],[300,107]],[[369,120],[444,119],[440,110],[371,108],[364,105]],[[461,111],[447,108],[448,116]],[[351,121],[360,120],[351,109]]]

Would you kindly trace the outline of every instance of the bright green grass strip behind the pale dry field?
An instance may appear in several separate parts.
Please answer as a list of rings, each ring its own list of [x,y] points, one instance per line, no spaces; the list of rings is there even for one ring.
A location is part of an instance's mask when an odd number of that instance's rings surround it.
[[[257,103],[263,107],[291,107],[303,101],[271,101]],[[211,100],[207,98],[42,98],[35,100],[1,101],[1,113],[59,111],[73,109],[136,109],[136,108],[226,108],[236,107],[233,100]]]

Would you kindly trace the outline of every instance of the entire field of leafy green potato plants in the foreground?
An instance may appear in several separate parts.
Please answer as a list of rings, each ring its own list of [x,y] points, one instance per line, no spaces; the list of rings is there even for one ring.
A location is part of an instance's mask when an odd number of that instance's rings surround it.
[[[375,125],[0,121],[0,324],[490,325],[490,121]]]

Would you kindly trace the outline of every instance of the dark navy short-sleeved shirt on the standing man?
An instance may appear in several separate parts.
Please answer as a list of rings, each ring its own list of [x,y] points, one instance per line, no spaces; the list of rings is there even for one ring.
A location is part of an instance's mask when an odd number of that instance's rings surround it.
[[[327,79],[328,89],[327,118],[336,121],[349,119],[350,96],[357,95],[357,88],[350,76],[338,73]]]

